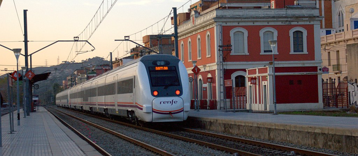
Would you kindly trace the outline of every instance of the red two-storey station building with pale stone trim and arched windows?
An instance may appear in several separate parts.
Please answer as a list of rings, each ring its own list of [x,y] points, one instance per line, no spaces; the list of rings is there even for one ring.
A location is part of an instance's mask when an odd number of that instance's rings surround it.
[[[216,100],[217,109],[226,101],[227,109],[274,110],[268,41],[277,40],[277,110],[323,108],[319,9],[270,9],[270,0],[262,1],[201,0],[190,6],[190,16],[178,14],[179,58],[189,77],[193,61],[201,69],[198,98]],[[224,80],[232,86],[224,87]]]

